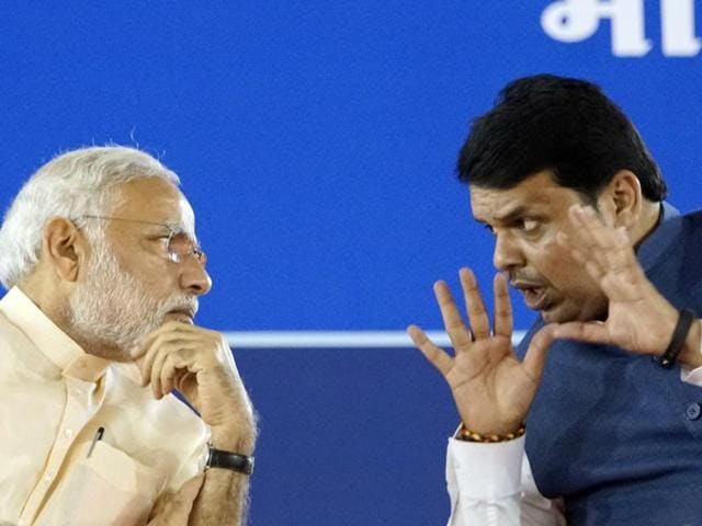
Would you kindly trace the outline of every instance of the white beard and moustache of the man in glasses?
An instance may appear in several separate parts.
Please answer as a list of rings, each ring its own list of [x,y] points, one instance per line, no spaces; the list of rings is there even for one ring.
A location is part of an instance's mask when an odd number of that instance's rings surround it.
[[[84,282],[69,297],[70,332],[90,354],[129,361],[129,353],[163,324],[169,311],[197,310],[197,299],[185,294],[154,299],[143,282],[120,267],[103,236],[97,238]]]

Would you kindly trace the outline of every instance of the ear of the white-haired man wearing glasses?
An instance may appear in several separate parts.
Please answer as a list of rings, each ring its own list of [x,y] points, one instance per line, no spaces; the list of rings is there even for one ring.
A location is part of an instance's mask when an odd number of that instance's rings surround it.
[[[44,226],[42,258],[64,281],[76,282],[88,256],[86,237],[65,217],[50,219]]]

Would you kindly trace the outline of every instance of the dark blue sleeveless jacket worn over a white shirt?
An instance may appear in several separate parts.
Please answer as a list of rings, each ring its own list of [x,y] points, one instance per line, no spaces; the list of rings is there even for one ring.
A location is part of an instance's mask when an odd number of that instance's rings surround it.
[[[666,205],[638,259],[670,302],[702,315],[702,211]],[[526,426],[536,485],[565,499],[569,526],[702,525],[702,388],[681,381],[679,367],[556,342]]]

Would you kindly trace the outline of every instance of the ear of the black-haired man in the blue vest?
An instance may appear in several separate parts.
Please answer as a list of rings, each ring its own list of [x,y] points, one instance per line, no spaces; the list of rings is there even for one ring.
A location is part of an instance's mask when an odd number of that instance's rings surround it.
[[[643,194],[638,178],[629,170],[620,170],[598,195],[598,209],[604,221],[627,230],[638,224]]]

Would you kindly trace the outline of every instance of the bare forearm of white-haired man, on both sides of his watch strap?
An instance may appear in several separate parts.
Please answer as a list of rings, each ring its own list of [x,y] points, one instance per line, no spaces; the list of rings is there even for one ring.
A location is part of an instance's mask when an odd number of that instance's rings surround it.
[[[229,430],[212,430],[212,445],[217,449],[250,456],[253,454],[254,442],[256,431],[252,422],[246,422]],[[208,469],[188,524],[190,526],[244,524],[248,492],[248,474],[223,468]]]

